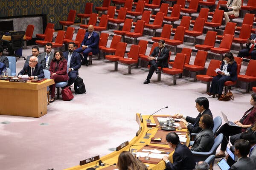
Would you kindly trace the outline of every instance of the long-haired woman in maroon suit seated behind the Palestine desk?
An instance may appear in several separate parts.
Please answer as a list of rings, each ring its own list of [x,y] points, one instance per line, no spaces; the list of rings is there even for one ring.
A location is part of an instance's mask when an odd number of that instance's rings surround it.
[[[56,51],[50,64],[51,79],[54,82],[65,82],[69,79],[67,74],[67,60],[63,57],[61,51]],[[51,96],[50,103],[55,101],[55,84],[50,85]]]

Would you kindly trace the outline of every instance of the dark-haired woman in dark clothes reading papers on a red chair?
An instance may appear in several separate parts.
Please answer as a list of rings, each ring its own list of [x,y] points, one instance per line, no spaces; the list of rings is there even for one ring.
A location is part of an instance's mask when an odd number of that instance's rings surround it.
[[[231,52],[226,53],[225,58],[221,64],[221,71],[218,71],[218,75],[213,77],[209,96],[213,95],[214,98],[217,94],[219,98],[222,94],[224,83],[227,81],[236,81],[237,79],[237,65]]]

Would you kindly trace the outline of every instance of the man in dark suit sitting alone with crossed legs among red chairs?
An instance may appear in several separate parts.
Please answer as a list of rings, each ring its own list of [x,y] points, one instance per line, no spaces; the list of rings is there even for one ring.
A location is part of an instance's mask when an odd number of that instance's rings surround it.
[[[149,63],[151,66],[149,68],[148,76],[143,84],[150,83],[150,79],[156,71],[156,74],[160,73],[158,67],[166,68],[168,67],[168,57],[169,57],[169,50],[164,46],[164,40],[160,40],[158,42],[158,47],[154,48],[152,54],[148,57]]]

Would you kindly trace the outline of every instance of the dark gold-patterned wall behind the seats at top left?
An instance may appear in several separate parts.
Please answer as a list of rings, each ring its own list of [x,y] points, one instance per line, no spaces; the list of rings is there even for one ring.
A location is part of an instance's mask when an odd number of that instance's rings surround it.
[[[70,9],[84,13],[85,3],[102,6],[103,0],[0,0],[0,17],[11,17],[32,14],[47,14],[47,23],[54,23],[55,30],[62,29],[58,21],[67,20]],[[76,17],[76,23],[80,18]],[[33,24],[33,23],[31,23]]]

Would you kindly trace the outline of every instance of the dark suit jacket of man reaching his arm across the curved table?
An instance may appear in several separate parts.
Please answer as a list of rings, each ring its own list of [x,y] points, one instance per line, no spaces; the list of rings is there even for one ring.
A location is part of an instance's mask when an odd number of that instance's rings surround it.
[[[209,108],[205,109],[205,111],[203,112],[202,115],[204,115],[204,114],[209,114],[210,116],[212,116],[212,112],[210,111]],[[186,116],[186,121],[189,123],[192,123],[192,125],[188,125],[188,130],[190,133],[198,133],[198,132],[200,132],[200,130],[202,130],[202,128],[199,127],[200,118],[201,118],[200,113],[198,114],[198,116],[196,118]]]

